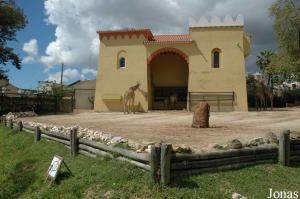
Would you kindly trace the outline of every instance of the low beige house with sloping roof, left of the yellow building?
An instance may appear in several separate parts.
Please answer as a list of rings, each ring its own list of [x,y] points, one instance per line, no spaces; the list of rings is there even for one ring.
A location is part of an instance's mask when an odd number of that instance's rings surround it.
[[[68,85],[74,89],[75,109],[93,109],[96,80],[78,80]]]

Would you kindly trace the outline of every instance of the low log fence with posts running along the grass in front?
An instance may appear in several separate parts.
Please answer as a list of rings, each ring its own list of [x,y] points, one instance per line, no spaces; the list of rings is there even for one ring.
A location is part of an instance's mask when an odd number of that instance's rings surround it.
[[[59,132],[42,131],[39,127],[23,125],[21,121],[1,122],[9,128],[17,128],[34,134],[34,140],[41,138],[53,140],[66,145],[73,156],[83,154],[90,157],[108,156],[113,159],[127,161],[137,167],[150,171],[155,183],[168,185],[174,177],[204,172],[218,172],[239,169],[263,163],[300,163],[300,140],[290,139],[290,132],[284,131],[279,137],[279,146],[261,146],[227,151],[205,152],[198,154],[174,153],[171,144],[153,145],[150,154],[136,153],[91,140],[77,137],[77,129],[70,130],[69,136]]]

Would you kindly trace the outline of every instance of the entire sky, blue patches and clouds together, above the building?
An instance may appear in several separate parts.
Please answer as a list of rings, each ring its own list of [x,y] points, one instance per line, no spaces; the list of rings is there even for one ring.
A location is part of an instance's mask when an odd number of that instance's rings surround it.
[[[275,49],[276,40],[269,17],[275,0],[16,0],[28,25],[9,45],[22,58],[22,69],[8,65],[10,82],[35,89],[38,81],[64,83],[94,79],[97,74],[99,39],[97,30],[150,28],[154,34],[186,34],[188,19],[200,16],[245,18],[245,31],[252,36],[252,53],[246,60],[248,72],[258,71],[256,55]],[[100,52],[101,53],[101,52]],[[101,66],[100,66],[101,67]]]

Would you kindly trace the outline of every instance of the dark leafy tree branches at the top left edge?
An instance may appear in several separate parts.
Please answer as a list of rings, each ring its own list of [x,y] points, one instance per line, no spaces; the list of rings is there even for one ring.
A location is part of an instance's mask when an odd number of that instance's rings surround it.
[[[21,68],[21,59],[14,49],[7,46],[8,41],[16,41],[16,33],[27,24],[23,10],[13,0],[0,0],[0,78],[8,79],[1,65],[11,62],[17,69]]]

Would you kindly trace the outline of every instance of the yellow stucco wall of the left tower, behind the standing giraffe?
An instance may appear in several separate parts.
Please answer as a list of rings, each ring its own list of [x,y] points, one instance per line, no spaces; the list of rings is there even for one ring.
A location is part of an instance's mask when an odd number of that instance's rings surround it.
[[[100,42],[100,60],[98,66],[95,111],[121,111],[121,96],[137,82],[141,91],[136,91],[135,106],[138,110],[147,111],[147,52],[144,36],[131,38],[105,37]],[[126,58],[126,67],[119,68],[118,54]]]

